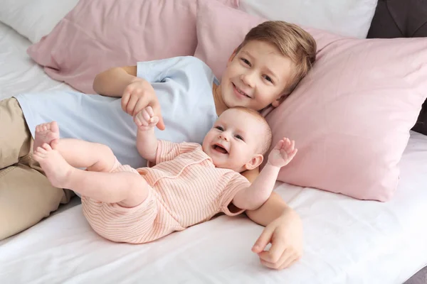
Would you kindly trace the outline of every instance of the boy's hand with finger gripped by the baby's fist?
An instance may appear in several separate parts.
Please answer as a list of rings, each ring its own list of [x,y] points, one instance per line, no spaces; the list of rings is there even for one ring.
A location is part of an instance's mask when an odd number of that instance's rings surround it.
[[[137,116],[142,109],[152,107],[152,111],[157,116],[157,128],[164,130],[164,122],[160,111],[159,100],[149,82],[141,78],[135,79],[128,84],[122,95],[122,109],[130,116]],[[136,123],[136,122],[135,122]]]

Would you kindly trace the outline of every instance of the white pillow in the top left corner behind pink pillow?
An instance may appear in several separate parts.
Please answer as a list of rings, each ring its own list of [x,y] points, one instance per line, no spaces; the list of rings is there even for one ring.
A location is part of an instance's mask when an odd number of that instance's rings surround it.
[[[0,0],[0,21],[32,43],[50,33],[78,0]]]

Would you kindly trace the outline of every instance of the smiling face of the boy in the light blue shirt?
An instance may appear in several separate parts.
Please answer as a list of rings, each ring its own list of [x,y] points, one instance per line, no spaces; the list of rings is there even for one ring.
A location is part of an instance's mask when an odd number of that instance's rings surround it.
[[[294,67],[290,58],[270,43],[252,40],[228,60],[221,80],[221,96],[227,107],[259,111],[285,95]]]

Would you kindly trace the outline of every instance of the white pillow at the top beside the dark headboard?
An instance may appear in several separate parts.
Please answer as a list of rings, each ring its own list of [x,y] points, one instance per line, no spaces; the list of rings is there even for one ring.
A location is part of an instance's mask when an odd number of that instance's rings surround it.
[[[270,20],[366,38],[378,0],[241,0],[240,9]]]

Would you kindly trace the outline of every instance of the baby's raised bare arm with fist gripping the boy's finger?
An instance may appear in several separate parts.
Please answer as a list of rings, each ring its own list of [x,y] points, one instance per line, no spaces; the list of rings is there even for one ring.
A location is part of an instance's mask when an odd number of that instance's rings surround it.
[[[155,163],[157,154],[157,137],[154,133],[154,126],[159,122],[159,118],[154,116],[152,107],[147,107],[139,111],[134,116],[137,130],[137,149],[142,158]]]

